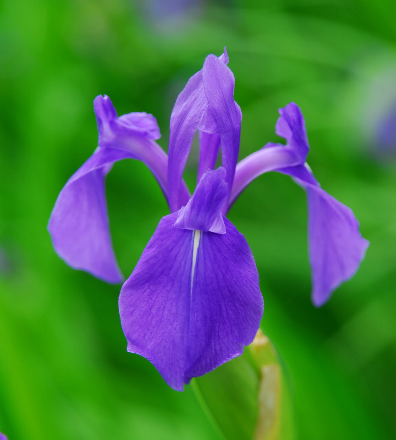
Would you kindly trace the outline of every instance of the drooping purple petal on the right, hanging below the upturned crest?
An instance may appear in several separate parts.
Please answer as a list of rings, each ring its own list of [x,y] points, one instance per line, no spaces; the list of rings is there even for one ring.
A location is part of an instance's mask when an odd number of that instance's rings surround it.
[[[312,302],[319,307],[356,273],[369,242],[360,234],[352,210],[326,193],[306,166],[278,171],[292,176],[307,192]]]

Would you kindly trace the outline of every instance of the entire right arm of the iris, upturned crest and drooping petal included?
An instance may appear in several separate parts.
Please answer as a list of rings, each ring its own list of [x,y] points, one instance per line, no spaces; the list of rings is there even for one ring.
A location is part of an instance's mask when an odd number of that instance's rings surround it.
[[[355,274],[368,242],[361,236],[351,209],[323,191],[308,165],[304,165],[309,146],[297,104],[290,103],[279,113],[276,133],[286,138],[286,146],[269,143],[238,163],[229,206],[253,179],[268,171],[292,176],[307,191],[312,301],[320,306]]]

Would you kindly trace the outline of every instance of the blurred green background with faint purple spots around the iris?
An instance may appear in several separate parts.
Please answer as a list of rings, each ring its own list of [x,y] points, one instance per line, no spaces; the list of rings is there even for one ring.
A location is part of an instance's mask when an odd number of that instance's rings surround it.
[[[167,149],[177,94],[227,45],[240,158],[278,141],[277,109],[296,102],[315,176],[371,242],[357,275],[315,309],[304,191],[269,173],[229,214],[257,262],[262,328],[293,380],[298,438],[396,438],[395,17],[385,0],[1,1],[0,431],[10,440],[220,438],[191,387],[173,391],[126,352],[120,286],[69,268],[46,226],[96,147],[94,97],[109,95],[119,114],[154,114]],[[137,161],[114,166],[107,196],[128,276],[167,206]]]

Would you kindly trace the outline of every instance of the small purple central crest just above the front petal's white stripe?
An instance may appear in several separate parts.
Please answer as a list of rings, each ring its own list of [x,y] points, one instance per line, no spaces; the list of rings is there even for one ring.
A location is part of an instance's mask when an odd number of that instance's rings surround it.
[[[227,202],[226,172],[223,167],[207,171],[187,205],[180,209],[176,227],[225,234],[221,210]]]

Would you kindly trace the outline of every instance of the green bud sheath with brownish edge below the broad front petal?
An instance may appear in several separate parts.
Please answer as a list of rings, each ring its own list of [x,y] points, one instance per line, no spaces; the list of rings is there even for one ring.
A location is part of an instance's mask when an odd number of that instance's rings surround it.
[[[278,354],[258,331],[230,362],[192,382],[210,419],[229,440],[293,440],[293,402]]]

